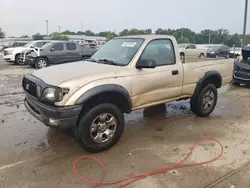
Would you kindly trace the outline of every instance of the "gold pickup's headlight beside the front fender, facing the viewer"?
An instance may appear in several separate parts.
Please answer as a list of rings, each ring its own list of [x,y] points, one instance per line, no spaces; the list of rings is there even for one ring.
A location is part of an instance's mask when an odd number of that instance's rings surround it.
[[[42,98],[48,102],[60,102],[63,96],[69,92],[66,88],[46,88],[43,91]]]

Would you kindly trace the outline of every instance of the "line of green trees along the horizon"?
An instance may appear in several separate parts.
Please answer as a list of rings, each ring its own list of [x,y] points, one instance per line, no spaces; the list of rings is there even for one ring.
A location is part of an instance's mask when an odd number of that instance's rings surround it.
[[[106,37],[108,40],[117,36],[128,36],[128,35],[144,35],[144,34],[159,34],[159,35],[173,35],[178,43],[195,43],[195,44],[225,44],[228,46],[241,46],[242,35],[235,33],[230,34],[227,29],[204,29],[201,32],[194,32],[189,28],[179,29],[161,29],[158,28],[156,31],[152,29],[124,29],[123,31],[116,33],[114,31],[102,31],[95,33],[90,30],[86,31],[70,31],[66,30],[61,33],[54,32],[50,34],[50,38],[54,40],[69,40],[65,35],[87,35],[87,36],[101,36]],[[0,38],[4,38],[5,33],[0,28]],[[27,35],[25,37],[28,37]],[[32,36],[34,40],[45,39],[46,35],[36,33]],[[246,36],[246,44],[250,44],[250,35]]]

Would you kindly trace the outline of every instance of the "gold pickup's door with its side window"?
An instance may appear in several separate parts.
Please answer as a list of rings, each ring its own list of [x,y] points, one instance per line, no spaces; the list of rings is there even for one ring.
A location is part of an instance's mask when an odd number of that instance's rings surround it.
[[[182,93],[183,68],[170,39],[148,43],[139,60],[151,59],[155,68],[137,69],[132,79],[133,109],[160,104],[178,98]]]

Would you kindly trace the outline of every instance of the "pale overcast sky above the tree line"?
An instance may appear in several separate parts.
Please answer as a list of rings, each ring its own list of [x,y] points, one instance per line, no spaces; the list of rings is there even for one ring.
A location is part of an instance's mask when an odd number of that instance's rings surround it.
[[[124,28],[227,28],[242,33],[245,0],[0,0],[0,27],[7,36]],[[249,5],[250,6],[250,5]],[[250,17],[250,12],[249,16]],[[250,27],[250,18],[248,27]],[[247,33],[250,31],[248,30]]]

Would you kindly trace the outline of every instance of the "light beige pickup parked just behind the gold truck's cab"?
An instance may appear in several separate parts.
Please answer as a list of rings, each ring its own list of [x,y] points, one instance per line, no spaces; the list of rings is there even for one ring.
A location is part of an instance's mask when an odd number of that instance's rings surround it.
[[[181,59],[204,58],[206,49],[198,48],[195,44],[179,44],[179,52]]]

